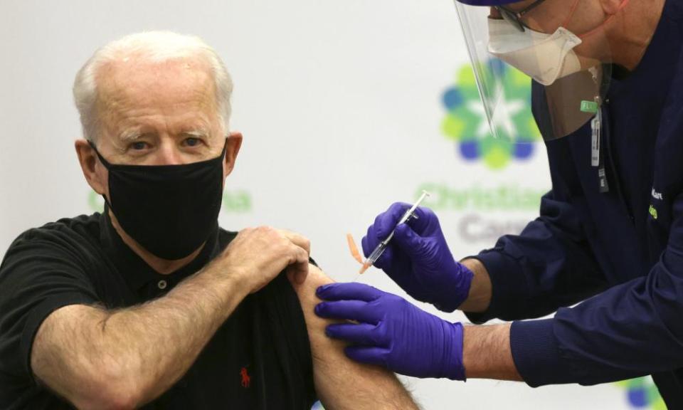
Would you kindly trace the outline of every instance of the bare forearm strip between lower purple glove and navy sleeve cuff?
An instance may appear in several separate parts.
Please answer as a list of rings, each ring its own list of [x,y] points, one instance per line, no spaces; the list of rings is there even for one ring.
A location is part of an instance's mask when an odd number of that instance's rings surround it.
[[[521,381],[512,359],[509,324],[465,326],[462,362],[470,379]]]

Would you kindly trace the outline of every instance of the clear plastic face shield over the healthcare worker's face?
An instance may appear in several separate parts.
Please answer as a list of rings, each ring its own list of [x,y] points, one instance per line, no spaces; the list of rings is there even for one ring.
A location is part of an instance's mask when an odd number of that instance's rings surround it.
[[[477,4],[477,0],[467,0]],[[465,36],[467,51],[477,80],[484,111],[492,134],[497,138],[514,135],[514,110],[507,104],[509,75],[504,63],[529,75],[544,86],[549,123],[541,126],[544,140],[565,137],[591,122],[598,113],[608,89],[610,56],[603,23],[581,37],[565,24],[571,20],[579,0],[540,0],[480,5],[455,0],[457,16]],[[563,9],[559,9],[564,6]],[[514,7],[514,9],[512,9]],[[542,8],[546,7],[546,10]],[[559,20],[560,15],[566,17]],[[546,21],[554,25],[546,33],[540,24],[544,16],[558,19]],[[529,22],[534,29],[526,25]],[[538,21],[539,26],[536,26]],[[590,40],[586,41],[588,38]],[[586,40],[585,40],[586,39]],[[590,44],[588,44],[590,42]],[[590,56],[588,56],[590,54]],[[503,61],[504,63],[501,63]]]

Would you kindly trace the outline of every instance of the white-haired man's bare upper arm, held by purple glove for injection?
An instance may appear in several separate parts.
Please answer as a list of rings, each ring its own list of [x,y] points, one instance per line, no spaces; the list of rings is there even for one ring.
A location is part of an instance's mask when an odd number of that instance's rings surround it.
[[[292,285],[299,296],[308,328],[313,357],[314,383],[327,409],[417,409],[396,376],[376,366],[352,361],[344,354],[346,343],[325,335],[331,320],[315,315],[320,300],[315,290],[334,280],[316,266],[309,266],[305,282]]]

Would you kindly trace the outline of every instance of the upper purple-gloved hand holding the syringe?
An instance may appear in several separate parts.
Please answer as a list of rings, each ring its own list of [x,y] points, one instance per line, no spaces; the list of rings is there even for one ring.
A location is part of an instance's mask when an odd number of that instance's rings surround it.
[[[411,205],[397,202],[368,228],[363,253],[374,248],[398,224]],[[427,208],[415,209],[416,219],[396,226],[389,246],[375,266],[386,272],[408,295],[452,312],[467,299],[472,271],[453,258],[436,215]]]

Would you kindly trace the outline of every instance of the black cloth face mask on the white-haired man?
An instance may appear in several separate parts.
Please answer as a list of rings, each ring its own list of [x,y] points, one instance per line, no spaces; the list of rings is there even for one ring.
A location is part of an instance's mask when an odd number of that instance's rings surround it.
[[[159,258],[189,256],[218,223],[223,196],[223,157],[183,165],[110,164],[105,201],[121,227]]]

